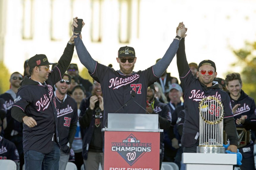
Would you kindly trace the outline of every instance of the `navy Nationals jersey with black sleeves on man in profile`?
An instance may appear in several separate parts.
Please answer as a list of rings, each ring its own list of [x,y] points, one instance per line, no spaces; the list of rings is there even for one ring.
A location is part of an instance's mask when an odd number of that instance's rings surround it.
[[[30,75],[24,77],[21,82],[13,107],[21,108],[24,116],[32,117],[37,122],[33,128],[23,123],[24,154],[27,150],[49,153],[54,141],[58,142],[57,110],[53,87],[68,69],[73,52],[74,46],[67,44],[57,66],[49,73],[45,84],[31,80]]]

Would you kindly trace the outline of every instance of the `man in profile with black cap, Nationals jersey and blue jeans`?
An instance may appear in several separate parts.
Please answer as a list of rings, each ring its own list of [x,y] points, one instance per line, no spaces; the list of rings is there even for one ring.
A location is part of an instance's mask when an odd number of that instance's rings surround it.
[[[60,144],[53,87],[68,69],[76,37],[71,36],[53,70],[49,69],[53,63],[49,63],[44,54],[28,60],[30,75],[21,82],[11,110],[12,117],[23,123],[25,169],[59,169]]]

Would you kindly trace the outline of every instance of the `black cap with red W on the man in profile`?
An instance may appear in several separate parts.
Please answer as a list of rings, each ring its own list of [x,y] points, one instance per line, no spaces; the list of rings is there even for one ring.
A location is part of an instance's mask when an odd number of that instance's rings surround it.
[[[35,66],[47,66],[52,64],[55,63],[49,63],[46,55],[44,54],[36,54],[28,60],[29,69],[34,68]]]

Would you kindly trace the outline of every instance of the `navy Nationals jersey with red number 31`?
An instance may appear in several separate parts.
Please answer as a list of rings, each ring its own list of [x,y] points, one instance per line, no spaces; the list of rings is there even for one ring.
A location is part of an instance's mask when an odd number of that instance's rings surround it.
[[[58,133],[60,149],[65,153],[69,153],[70,147],[68,144],[69,127],[73,123],[77,124],[77,102],[68,96],[64,97],[63,101],[60,101],[56,96],[56,109],[58,120]]]

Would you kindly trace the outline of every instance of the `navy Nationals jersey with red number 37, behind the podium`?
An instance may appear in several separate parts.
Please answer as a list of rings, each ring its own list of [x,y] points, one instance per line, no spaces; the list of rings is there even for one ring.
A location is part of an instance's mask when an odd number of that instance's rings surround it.
[[[132,98],[132,90],[136,93],[134,100],[146,108],[147,88],[159,79],[154,75],[153,66],[143,71],[124,75],[120,71],[115,71],[98,62],[91,77],[101,84],[104,98],[104,125],[108,113],[115,113]],[[117,113],[146,113],[138,104],[130,101]]]

